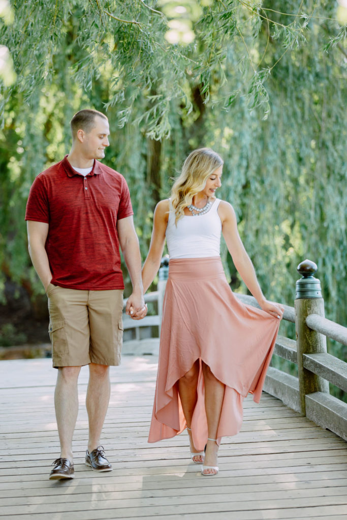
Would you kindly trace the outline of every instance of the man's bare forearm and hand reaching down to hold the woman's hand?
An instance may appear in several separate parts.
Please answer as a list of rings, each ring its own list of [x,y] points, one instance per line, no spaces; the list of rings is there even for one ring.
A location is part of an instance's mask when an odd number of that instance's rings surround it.
[[[125,312],[136,315],[137,319],[147,314],[141,276],[141,255],[133,217],[125,217],[117,222],[117,232],[127,270],[133,285],[133,292],[128,297]],[[131,309],[132,308],[132,309]]]

